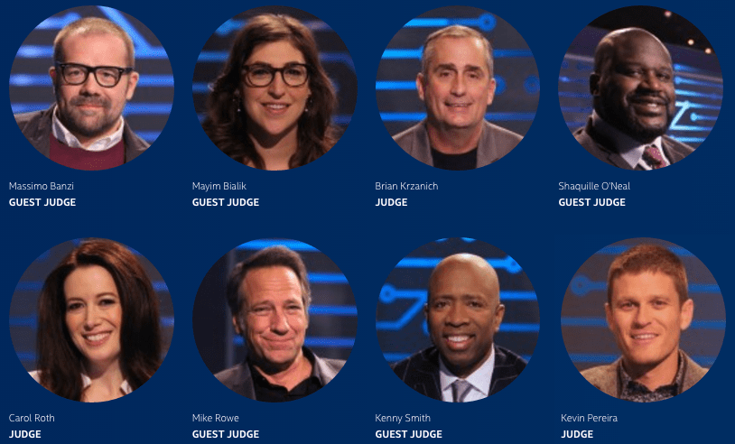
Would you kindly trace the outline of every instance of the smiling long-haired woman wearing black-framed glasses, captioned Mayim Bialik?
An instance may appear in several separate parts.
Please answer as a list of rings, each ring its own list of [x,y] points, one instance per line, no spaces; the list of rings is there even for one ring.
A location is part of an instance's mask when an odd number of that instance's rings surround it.
[[[312,32],[292,17],[248,19],[210,88],[202,126],[237,162],[288,170],[318,159],[337,142],[334,88]]]

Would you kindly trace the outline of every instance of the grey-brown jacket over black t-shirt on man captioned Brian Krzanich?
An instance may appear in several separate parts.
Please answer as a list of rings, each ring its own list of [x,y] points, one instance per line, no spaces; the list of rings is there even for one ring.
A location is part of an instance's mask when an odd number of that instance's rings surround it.
[[[523,139],[520,134],[508,131],[498,125],[492,125],[487,120],[483,122],[482,134],[478,143],[478,168],[497,161]],[[414,159],[433,166],[432,145],[429,142],[429,133],[426,131],[426,120],[414,125],[403,133],[393,136],[395,143]]]

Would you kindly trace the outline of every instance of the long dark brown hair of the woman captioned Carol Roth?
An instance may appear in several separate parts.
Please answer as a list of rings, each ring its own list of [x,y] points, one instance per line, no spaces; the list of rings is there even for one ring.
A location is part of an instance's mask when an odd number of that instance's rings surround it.
[[[158,298],[143,266],[124,245],[107,239],[82,243],[68,254],[43,284],[38,301],[37,368],[51,392],[81,401],[85,357],[74,346],[66,326],[64,282],[74,270],[99,265],[115,280],[123,310],[120,368],[133,390],[161,365]]]

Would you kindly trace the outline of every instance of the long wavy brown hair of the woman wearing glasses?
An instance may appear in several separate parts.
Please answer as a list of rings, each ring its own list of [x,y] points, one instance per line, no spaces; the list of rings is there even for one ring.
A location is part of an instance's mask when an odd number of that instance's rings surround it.
[[[312,162],[337,143],[331,125],[337,97],[326,71],[321,67],[312,32],[287,15],[257,15],[248,19],[247,25],[237,33],[225,68],[211,87],[208,116],[202,126],[223,153],[238,162],[252,163],[261,170],[265,168],[265,162],[256,153],[255,145],[247,134],[245,110],[237,112],[242,102],[238,90],[242,83],[243,65],[255,48],[264,43],[281,41],[291,42],[302,52],[309,66],[309,88],[312,91],[306,106],[308,111],[299,118],[298,148],[289,161],[289,167],[296,168]]]

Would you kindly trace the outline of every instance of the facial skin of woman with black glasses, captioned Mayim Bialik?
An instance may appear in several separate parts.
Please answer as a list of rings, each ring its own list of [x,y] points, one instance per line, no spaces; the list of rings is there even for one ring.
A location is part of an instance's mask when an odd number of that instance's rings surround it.
[[[256,46],[247,58],[246,65],[263,64],[273,68],[284,68],[289,63],[306,63],[301,51],[291,42],[280,41]],[[248,132],[257,140],[264,136],[282,138],[296,135],[299,118],[312,95],[307,81],[300,87],[289,87],[281,73],[276,73],[267,87],[248,87],[243,77],[243,107],[247,112]]]

